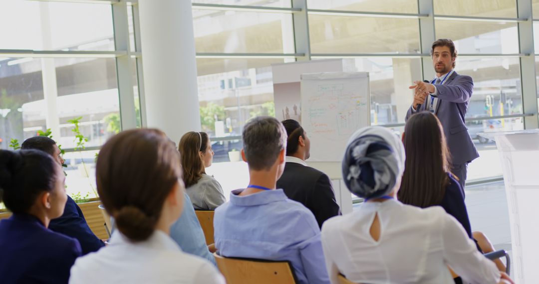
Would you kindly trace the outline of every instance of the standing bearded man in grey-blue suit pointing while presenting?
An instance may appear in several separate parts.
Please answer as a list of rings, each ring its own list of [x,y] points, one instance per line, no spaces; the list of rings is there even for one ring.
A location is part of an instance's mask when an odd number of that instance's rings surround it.
[[[414,81],[414,85],[410,86],[410,89],[414,89],[414,97],[405,120],[425,110],[433,112],[440,119],[451,152],[451,172],[459,178],[464,195],[468,164],[479,157],[464,120],[472,96],[473,80],[453,70],[457,50],[452,40],[434,41],[431,55],[436,77],[428,83]]]

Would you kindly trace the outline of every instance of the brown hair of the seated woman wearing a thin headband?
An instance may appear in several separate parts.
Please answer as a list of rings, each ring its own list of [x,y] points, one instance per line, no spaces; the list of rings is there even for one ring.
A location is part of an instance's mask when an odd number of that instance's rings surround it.
[[[205,173],[201,152],[208,148],[208,134],[206,132],[187,132],[179,140],[178,151],[182,156],[183,182],[190,187],[201,179]]]

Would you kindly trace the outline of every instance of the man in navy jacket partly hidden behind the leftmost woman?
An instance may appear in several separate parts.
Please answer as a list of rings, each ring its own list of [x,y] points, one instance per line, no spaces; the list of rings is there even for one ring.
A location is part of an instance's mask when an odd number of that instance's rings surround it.
[[[56,142],[49,137],[36,136],[28,138],[23,142],[23,145],[21,145],[20,148],[21,150],[36,149],[43,151],[51,155],[58,164],[64,164],[64,159],[62,159],[60,154],[60,148],[58,148]],[[82,248],[82,255],[97,251],[99,248],[105,246],[105,243],[96,237],[89,228],[79,205],[77,205],[69,195],[67,196],[64,214],[56,219],[52,219],[49,224],[49,229],[79,240],[80,247]]]

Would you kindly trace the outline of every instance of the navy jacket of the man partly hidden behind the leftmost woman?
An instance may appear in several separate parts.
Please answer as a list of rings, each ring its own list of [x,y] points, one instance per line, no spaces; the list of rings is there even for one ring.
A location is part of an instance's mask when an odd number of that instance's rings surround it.
[[[82,248],[82,255],[97,251],[99,248],[105,246],[105,243],[90,230],[79,205],[69,195],[67,196],[64,214],[56,219],[52,219],[49,229],[78,239]]]

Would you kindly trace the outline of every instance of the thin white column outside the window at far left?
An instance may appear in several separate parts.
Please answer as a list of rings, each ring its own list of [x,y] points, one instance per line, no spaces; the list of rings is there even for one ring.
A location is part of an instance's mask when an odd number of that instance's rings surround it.
[[[52,41],[49,3],[39,3],[39,12],[43,40],[42,47],[43,50],[51,50]],[[41,74],[43,80],[43,97],[45,101],[45,127],[51,129],[53,138],[58,140],[60,139],[60,120],[58,118],[58,86],[56,82],[56,66],[54,66],[54,58],[41,59]]]

